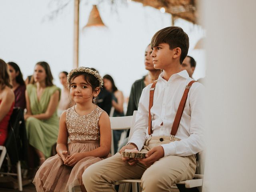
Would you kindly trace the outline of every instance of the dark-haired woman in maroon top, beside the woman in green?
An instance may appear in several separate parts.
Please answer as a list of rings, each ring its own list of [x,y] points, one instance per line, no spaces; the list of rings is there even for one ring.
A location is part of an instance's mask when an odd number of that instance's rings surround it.
[[[14,62],[8,62],[8,68],[10,72],[10,77],[12,81],[12,90],[15,95],[15,107],[20,107],[23,110],[26,108],[26,98],[25,91],[26,85],[23,80],[22,73],[19,66]]]

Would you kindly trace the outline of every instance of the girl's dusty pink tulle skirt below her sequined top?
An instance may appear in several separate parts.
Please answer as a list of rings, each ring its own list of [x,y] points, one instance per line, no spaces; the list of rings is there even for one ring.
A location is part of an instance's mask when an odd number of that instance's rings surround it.
[[[68,154],[76,152],[91,151],[100,146],[99,141],[68,143]],[[107,156],[109,157],[110,154]],[[105,157],[105,158],[107,158]],[[33,184],[37,192],[68,192],[68,187],[80,186],[84,188],[82,174],[91,164],[94,164],[104,158],[85,157],[76,163],[74,167],[64,165],[58,154],[48,158],[36,172]],[[85,188],[84,188],[85,189]]]

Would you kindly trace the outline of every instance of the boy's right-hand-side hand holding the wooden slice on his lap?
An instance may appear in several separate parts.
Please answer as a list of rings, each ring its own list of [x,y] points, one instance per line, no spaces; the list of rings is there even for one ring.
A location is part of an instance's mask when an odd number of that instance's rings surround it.
[[[146,158],[138,159],[141,164],[144,164],[146,167],[150,167],[155,161],[159,160],[164,156],[164,148],[162,146],[153,147],[146,154]]]

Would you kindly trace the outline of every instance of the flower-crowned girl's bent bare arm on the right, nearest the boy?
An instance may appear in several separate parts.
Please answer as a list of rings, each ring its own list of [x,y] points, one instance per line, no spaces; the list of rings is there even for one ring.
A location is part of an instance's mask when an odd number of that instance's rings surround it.
[[[103,112],[99,120],[100,127],[100,147],[87,152],[75,153],[72,156],[68,156],[68,159],[64,164],[68,166],[74,166],[82,158],[93,156],[93,157],[106,157],[110,153],[111,147],[111,128],[110,119],[106,112]]]

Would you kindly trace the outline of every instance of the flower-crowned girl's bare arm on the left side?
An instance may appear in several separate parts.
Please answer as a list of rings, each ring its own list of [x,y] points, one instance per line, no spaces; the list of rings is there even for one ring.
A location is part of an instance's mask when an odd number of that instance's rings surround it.
[[[58,155],[64,161],[68,156],[68,130],[66,127],[66,111],[64,111],[60,116],[60,126],[59,126],[59,134],[57,140],[56,151]]]

